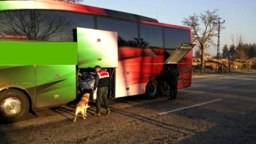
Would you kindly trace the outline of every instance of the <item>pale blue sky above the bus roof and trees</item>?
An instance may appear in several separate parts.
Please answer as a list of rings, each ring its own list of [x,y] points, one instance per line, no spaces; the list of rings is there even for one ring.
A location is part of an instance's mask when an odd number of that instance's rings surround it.
[[[161,23],[181,25],[189,15],[200,15],[204,11],[219,9],[216,14],[225,30],[220,31],[220,54],[225,44],[233,44],[235,38],[243,36],[243,42],[256,43],[256,0],[83,0],[81,4],[139,14],[157,19]],[[214,38],[217,44],[218,38]],[[195,51],[194,51],[195,52]],[[209,47],[206,53],[217,55],[217,46]]]

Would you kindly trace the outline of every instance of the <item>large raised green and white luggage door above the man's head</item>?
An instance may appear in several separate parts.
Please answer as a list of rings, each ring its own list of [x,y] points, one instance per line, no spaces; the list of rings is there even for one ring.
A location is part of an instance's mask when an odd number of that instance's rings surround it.
[[[117,32],[77,28],[78,69],[116,68]]]

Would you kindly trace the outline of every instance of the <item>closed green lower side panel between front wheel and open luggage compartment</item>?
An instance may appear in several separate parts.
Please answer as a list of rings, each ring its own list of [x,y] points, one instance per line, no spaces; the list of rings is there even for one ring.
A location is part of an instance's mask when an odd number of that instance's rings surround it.
[[[67,105],[75,97],[75,65],[36,66],[36,109]]]

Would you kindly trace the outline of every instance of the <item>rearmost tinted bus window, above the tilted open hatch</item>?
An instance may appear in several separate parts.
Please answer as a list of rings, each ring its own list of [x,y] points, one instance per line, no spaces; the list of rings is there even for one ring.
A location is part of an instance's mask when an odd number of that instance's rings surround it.
[[[175,49],[181,43],[190,43],[189,30],[164,28],[164,48]]]

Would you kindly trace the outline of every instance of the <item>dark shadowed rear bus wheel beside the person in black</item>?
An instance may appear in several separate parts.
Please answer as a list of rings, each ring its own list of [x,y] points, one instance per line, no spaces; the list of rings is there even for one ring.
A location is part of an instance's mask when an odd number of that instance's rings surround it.
[[[159,95],[159,93],[160,93],[159,82],[157,80],[150,80],[147,83],[147,87],[145,91],[147,100],[155,99],[157,95]]]

